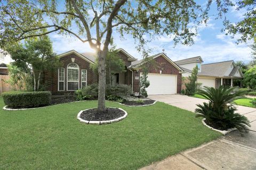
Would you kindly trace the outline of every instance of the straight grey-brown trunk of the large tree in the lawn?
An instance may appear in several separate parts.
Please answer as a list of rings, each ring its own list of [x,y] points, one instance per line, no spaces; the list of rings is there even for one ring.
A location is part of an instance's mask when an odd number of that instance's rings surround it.
[[[105,105],[106,94],[106,55],[107,50],[99,50],[98,58],[98,73],[99,73],[99,95],[98,95],[98,113],[106,113],[107,108]]]

